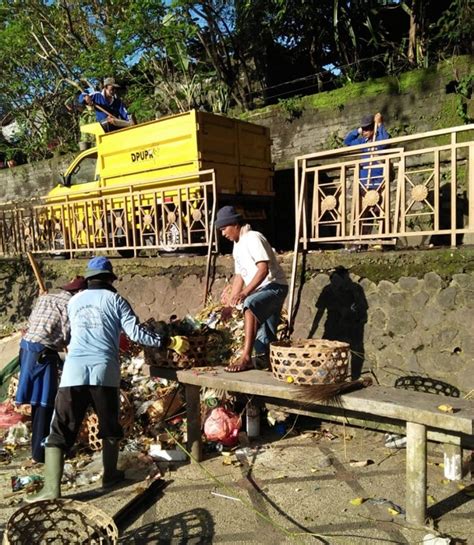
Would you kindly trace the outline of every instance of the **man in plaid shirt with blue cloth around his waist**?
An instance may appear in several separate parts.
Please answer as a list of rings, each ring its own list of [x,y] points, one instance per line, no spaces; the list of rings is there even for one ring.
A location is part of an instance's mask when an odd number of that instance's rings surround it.
[[[31,405],[32,463],[44,462],[43,441],[49,433],[58,389],[58,352],[64,350],[70,338],[67,305],[86,286],[84,277],[77,276],[61,287],[62,292],[40,295],[20,342],[16,403]]]

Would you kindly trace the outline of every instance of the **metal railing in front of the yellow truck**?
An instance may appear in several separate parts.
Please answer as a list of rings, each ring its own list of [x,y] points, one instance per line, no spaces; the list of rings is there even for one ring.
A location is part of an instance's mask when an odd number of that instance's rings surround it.
[[[54,200],[53,200],[54,199]],[[0,254],[114,251],[137,255],[215,244],[214,170],[0,206]]]

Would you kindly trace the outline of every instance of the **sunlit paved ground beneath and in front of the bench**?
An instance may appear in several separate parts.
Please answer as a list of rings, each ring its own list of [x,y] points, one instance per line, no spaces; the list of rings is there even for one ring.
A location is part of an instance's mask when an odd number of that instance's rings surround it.
[[[431,533],[474,544],[474,497],[463,491],[471,475],[462,483],[446,481],[440,447],[429,447],[429,521],[415,528],[404,519],[405,450],[386,448],[381,433],[319,428],[302,417],[293,423],[297,434],[279,437],[265,427],[258,441],[229,455],[164,464],[165,488],[121,520],[119,543],[411,545]],[[2,531],[24,505],[22,493],[5,495],[12,476],[28,473],[21,470],[27,454],[0,466]],[[128,468],[123,486],[105,495],[94,483],[65,489],[64,496],[114,516],[143,490],[145,473]]]

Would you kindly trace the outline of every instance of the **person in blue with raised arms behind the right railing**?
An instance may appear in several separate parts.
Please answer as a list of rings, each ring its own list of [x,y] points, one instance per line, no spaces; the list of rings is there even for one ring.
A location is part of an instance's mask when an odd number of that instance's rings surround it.
[[[360,127],[347,133],[344,138],[345,146],[358,146],[360,144],[367,144],[369,142],[377,142],[380,140],[386,140],[390,138],[390,135],[385,130],[383,124],[383,117],[381,113],[373,115],[365,115],[362,118]],[[385,145],[372,147],[372,150],[380,150],[386,148]],[[364,152],[370,151],[369,149],[363,150]],[[369,155],[364,153],[363,158],[369,158]],[[383,182],[383,169],[380,167],[373,167],[377,164],[376,161],[370,161],[368,163],[361,163],[359,169],[359,180],[361,185],[367,189],[379,189]]]

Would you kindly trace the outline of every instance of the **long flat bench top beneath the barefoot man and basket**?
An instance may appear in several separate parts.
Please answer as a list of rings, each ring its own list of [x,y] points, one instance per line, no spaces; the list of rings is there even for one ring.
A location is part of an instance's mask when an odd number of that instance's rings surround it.
[[[295,400],[296,391],[292,384],[273,378],[268,371],[251,370],[242,373],[227,373],[223,369],[211,372],[195,368],[178,371],[178,380],[184,384],[194,384],[265,397]],[[439,396],[409,390],[399,390],[382,386],[371,386],[344,394],[336,401],[327,404],[312,403],[312,406],[340,406],[347,410],[366,414],[378,414],[392,419],[425,424],[472,435],[474,431],[474,403],[469,400],[451,399],[456,412],[443,413],[438,409]]]

